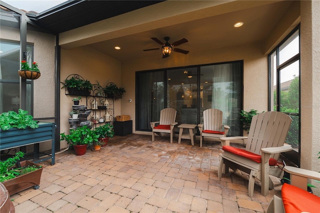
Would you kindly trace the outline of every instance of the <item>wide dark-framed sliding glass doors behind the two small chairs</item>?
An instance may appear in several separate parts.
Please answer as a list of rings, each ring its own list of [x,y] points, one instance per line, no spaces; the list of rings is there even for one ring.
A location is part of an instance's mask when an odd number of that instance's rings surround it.
[[[165,107],[176,109],[179,124],[202,123],[203,110],[218,108],[228,135],[242,135],[242,76],[242,61],[136,72],[136,130],[150,131]]]

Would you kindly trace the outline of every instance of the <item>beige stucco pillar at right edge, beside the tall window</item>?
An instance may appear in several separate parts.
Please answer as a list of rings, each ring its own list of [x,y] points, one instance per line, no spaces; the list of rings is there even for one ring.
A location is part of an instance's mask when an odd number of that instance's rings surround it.
[[[313,171],[320,171],[319,11],[320,1],[301,1],[301,168]]]

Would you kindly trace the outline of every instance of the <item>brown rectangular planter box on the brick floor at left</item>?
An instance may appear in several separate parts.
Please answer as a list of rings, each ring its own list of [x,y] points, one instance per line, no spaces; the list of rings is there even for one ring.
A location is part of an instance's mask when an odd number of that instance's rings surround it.
[[[20,164],[21,166],[35,165],[38,168],[40,167],[39,165],[33,162],[30,162],[28,160],[21,161]],[[41,167],[35,171],[31,171],[21,176],[14,177],[13,179],[6,180],[2,183],[5,186],[5,188],[8,190],[9,195],[22,191],[31,186],[33,186],[34,189],[38,189],[40,184],[42,169],[43,168]]]

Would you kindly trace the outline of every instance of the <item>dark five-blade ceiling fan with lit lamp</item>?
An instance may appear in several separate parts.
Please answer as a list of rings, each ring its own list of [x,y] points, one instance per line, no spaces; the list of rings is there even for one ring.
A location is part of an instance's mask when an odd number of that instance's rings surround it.
[[[163,43],[162,41],[160,41],[156,37],[151,37],[151,39],[154,40],[155,42],[157,42],[158,44],[161,44],[161,48],[143,49],[143,51],[161,49],[162,54],[163,54],[162,58],[170,56],[171,50],[172,51],[176,51],[176,52],[180,52],[180,53],[183,53],[183,54],[187,54],[189,52],[189,51],[184,50],[184,49],[174,48],[174,46],[177,46],[177,45],[180,45],[182,43],[188,42],[188,40],[185,39],[185,38],[177,40],[177,41],[175,41],[175,42],[173,42],[171,44],[168,42],[170,37],[167,37],[167,36],[164,37],[165,43]]]

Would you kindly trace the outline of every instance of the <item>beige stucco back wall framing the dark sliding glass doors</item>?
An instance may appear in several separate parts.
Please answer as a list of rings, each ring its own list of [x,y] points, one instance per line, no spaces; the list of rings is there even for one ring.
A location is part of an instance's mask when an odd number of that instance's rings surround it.
[[[267,55],[263,55],[261,43],[252,43],[202,51],[190,51],[187,55],[174,52],[167,58],[161,58],[161,55],[159,55],[154,58],[123,62],[121,82],[127,92],[121,100],[121,113],[130,115],[133,120],[133,132],[135,132],[136,71],[234,60],[243,60],[243,109],[267,110]],[[132,102],[128,101],[129,98],[132,99]],[[136,133],[148,134],[148,132],[140,131]]]

